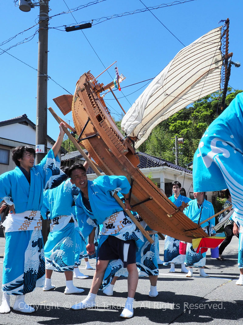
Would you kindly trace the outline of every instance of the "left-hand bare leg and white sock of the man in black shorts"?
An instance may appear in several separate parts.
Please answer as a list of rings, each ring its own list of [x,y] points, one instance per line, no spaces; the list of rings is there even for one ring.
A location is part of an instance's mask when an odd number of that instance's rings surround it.
[[[83,301],[81,301],[78,304],[73,305],[71,307],[72,309],[77,310],[77,309],[86,309],[86,308],[95,307],[95,298],[96,298],[97,292],[99,290],[99,287],[102,284],[105,270],[108,266],[108,263],[109,263],[109,260],[106,260],[106,261],[98,260],[98,262],[96,263],[96,271],[95,271],[95,274],[93,277],[93,281],[91,284],[89,294]]]

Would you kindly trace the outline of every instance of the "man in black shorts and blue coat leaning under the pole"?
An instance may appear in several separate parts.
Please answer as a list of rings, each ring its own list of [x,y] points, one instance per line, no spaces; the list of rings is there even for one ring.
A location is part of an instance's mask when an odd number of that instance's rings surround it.
[[[128,192],[130,184],[125,176],[99,176],[93,181],[87,180],[82,165],[73,165],[69,169],[71,182],[80,188],[76,200],[76,217],[83,236],[89,236],[87,253],[95,252],[94,227],[103,224],[97,249],[96,271],[87,298],[72,306],[72,309],[95,307],[95,298],[102,284],[105,270],[111,259],[121,259],[128,270],[128,298],[121,313],[122,318],[133,316],[133,298],[138,283],[136,267],[135,240],[142,238],[140,230],[112,196],[118,190],[125,198],[125,209],[130,210]]]

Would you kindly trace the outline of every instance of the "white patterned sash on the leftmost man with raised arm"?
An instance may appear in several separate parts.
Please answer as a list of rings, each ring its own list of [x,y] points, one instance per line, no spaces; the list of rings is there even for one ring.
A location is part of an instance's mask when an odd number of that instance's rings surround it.
[[[2,223],[5,232],[23,230],[41,230],[41,212],[25,211],[22,213],[9,213]]]

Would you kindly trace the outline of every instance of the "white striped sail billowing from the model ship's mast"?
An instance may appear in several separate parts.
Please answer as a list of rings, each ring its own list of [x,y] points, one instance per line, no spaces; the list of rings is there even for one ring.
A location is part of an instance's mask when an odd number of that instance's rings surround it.
[[[135,148],[158,123],[220,89],[221,29],[213,29],[180,50],[125,114],[121,128],[137,137]]]

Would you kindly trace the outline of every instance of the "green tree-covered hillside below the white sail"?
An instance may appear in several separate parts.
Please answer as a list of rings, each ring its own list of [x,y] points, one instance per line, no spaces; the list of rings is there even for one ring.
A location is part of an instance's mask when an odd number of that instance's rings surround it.
[[[242,90],[228,88],[226,107]],[[199,141],[207,127],[219,116],[221,93],[207,95],[159,123],[148,139],[139,147],[139,151],[175,162],[173,139],[183,137],[184,144],[179,145],[179,165],[186,166],[193,159]]]

